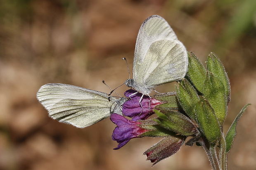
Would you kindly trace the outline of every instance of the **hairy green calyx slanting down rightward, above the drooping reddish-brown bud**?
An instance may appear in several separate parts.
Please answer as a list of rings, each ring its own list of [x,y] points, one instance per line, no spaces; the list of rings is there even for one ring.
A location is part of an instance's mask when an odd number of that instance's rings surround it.
[[[183,136],[199,134],[197,126],[184,114],[175,111],[154,110],[160,126]]]

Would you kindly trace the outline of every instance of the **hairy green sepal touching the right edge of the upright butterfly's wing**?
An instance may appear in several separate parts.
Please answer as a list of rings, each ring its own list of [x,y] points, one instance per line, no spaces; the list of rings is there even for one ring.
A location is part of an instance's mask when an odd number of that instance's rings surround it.
[[[192,52],[188,52],[188,63],[187,76],[193,82],[195,88],[198,91],[202,91],[206,79],[206,69]]]

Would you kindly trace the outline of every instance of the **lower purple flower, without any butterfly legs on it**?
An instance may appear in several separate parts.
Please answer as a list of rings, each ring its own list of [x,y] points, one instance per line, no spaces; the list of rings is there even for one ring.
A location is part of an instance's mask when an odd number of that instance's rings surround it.
[[[110,120],[117,126],[113,131],[112,139],[116,140],[119,144],[114,149],[123,147],[132,138],[142,137],[140,136],[141,134],[149,131],[139,126],[142,124],[141,122],[130,121],[119,114],[111,114]]]

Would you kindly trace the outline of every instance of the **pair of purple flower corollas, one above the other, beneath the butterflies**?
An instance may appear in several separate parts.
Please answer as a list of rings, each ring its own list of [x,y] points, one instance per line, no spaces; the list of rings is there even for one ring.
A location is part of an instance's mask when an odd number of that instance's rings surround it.
[[[144,137],[143,134],[150,131],[150,129],[143,128],[143,121],[140,120],[147,119],[154,114],[154,107],[163,104],[163,102],[150,98],[147,95],[144,95],[140,102],[142,93],[136,93],[136,91],[132,89],[126,91],[124,94],[126,97],[130,98],[130,100],[123,103],[123,115],[132,119],[129,120],[119,114],[111,114],[110,119],[117,126],[114,129],[112,138],[119,143],[118,147],[114,149],[123,147],[123,145],[132,138]]]

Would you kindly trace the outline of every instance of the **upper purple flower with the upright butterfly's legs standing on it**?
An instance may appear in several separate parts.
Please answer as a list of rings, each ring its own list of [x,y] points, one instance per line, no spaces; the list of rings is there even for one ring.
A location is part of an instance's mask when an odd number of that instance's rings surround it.
[[[154,114],[154,107],[163,104],[163,102],[154,98],[150,98],[147,95],[143,95],[140,102],[142,93],[136,92],[137,91],[130,89],[124,93],[126,97],[130,97],[130,100],[127,100],[123,103],[123,115],[132,117],[133,121],[147,119],[149,116]],[[140,104],[142,105],[142,107]]]

